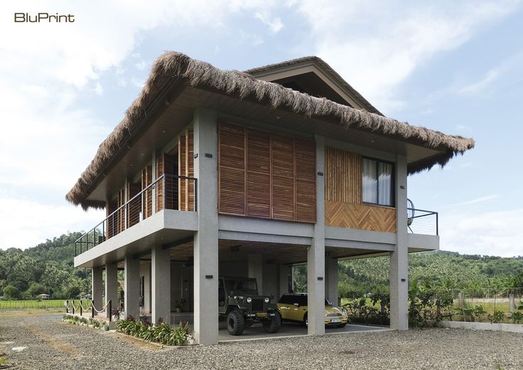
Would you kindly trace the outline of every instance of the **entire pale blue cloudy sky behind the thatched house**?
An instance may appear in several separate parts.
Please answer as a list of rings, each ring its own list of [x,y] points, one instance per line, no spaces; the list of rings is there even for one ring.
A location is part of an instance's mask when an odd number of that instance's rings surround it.
[[[473,137],[409,199],[443,250],[523,255],[522,18],[516,0],[1,1],[0,248],[102,221],[65,194],[174,50],[230,70],[319,56],[384,115]]]

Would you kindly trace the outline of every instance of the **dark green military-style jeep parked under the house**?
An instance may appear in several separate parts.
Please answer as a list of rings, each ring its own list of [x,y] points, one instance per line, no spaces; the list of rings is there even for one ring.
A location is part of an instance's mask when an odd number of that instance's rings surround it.
[[[242,335],[245,327],[261,321],[268,333],[280,329],[281,316],[271,297],[258,295],[256,279],[250,277],[220,277],[218,283],[218,313],[227,319],[227,331]]]

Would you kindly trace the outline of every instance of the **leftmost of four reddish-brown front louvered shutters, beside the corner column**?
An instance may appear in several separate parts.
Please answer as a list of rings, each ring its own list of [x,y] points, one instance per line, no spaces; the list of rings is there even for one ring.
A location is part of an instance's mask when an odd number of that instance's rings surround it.
[[[245,127],[220,125],[218,210],[245,216]]]

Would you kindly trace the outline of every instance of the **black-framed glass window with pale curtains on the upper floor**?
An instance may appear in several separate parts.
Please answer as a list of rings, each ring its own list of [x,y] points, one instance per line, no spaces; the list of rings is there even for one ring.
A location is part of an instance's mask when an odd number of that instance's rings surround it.
[[[378,159],[363,158],[363,203],[394,206],[394,165]]]

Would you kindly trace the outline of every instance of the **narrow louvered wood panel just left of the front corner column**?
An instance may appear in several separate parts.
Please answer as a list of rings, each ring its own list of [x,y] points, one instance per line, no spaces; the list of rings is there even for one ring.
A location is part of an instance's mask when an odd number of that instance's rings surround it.
[[[194,177],[194,139],[193,130],[188,129],[178,139],[178,169],[181,176]],[[194,211],[194,181],[178,180],[178,199],[180,211]]]

